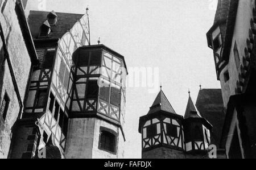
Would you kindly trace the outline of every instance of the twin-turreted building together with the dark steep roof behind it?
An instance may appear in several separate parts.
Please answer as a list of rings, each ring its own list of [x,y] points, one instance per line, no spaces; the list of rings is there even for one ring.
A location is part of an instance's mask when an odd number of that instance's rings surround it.
[[[184,117],[178,115],[162,89],[147,115],[139,119],[143,159],[207,159],[210,144],[218,144],[224,118],[221,93],[218,89],[200,89],[196,105],[190,92]],[[216,99],[218,98],[218,99]],[[207,117],[213,125],[205,119]],[[220,124],[220,125],[218,125]],[[217,145],[218,158],[224,154]]]

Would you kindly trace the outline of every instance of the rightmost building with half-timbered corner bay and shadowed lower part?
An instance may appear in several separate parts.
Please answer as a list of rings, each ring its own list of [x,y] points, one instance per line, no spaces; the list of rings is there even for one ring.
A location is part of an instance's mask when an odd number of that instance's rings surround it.
[[[230,159],[256,157],[255,18],[255,1],[219,0],[207,33],[224,99],[221,145]]]

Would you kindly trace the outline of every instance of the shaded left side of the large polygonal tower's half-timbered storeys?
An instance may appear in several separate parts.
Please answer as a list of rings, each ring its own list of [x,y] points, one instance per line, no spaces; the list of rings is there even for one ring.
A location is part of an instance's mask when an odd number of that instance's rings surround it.
[[[79,51],[77,57],[74,57],[74,61],[77,68],[72,111],[77,113],[96,111],[101,51]]]

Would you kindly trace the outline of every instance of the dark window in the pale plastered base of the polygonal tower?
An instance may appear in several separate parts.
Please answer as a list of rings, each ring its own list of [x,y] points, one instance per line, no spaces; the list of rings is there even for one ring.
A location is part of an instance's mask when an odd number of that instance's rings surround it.
[[[100,132],[100,149],[114,153],[116,145],[116,136],[109,131]]]

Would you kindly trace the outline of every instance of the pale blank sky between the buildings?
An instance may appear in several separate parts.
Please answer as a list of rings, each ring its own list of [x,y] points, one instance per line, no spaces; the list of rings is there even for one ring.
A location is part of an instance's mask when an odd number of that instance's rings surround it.
[[[40,1],[31,1],[28,8],[38,10]],[[125,56],[127,67],[159,67],[159,81],[177,114],[185,113],[188,89],[196,102],[200,84],[220,88],[206,38],[216,0],[46,0],[46,11],[84,14],[87,6],[91,43],[100,37]],[[126,158],[141,158],[139,117],[156,95],[147,88],[127,89]]]

